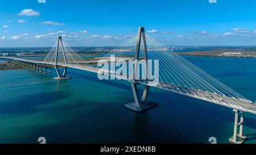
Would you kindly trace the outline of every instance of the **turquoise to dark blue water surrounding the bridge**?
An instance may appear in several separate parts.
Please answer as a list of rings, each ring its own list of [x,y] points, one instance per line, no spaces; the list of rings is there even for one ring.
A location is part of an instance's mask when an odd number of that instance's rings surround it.
[[[241,95],[256,100],[256,59],[185,57]],[[100,81],[96,73],[69,69],[55,81],[31,69],[0,71],[0,143],[229,143],[231,109],[151,89],[158,107],[134,112],[130,83]],[[245,115],[246,143],[256,143],[256,116]]]

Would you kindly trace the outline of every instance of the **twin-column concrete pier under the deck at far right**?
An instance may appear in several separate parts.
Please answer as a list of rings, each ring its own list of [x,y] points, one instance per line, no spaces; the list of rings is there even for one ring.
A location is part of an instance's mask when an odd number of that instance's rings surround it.
[[[235,143],[235,144],[242,144],[247,139],[246,136],[243,136],[243,117],[244,117],[244,112],[238,111],[238,110],[233,110],[233,111],[235,112],[234,134],[233,134],[232,137],[230,137],[229,141],[231,143]],[[238,123],[239,113],[241,114],[241,116],[240,116],[240,123]],[[237,134],[237,127],[238,126],[240,126],[239,134]]]

